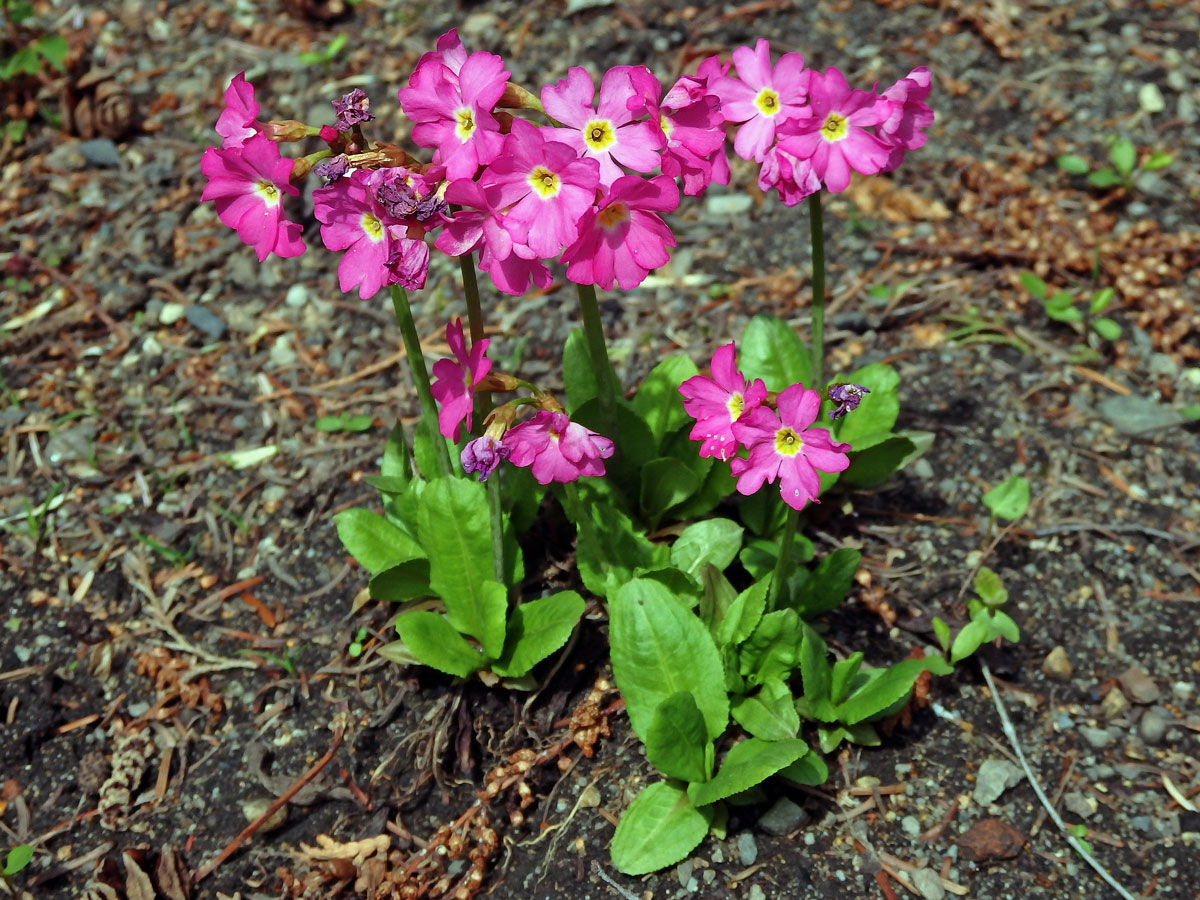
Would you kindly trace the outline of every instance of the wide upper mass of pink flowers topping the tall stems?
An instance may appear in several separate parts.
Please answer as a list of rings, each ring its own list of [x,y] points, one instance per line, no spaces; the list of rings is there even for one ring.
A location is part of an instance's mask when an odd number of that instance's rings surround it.
[[[732,70],[732,74],[731,74]],[[217,120],[221,148],[204,154],[204,199],[259,259],[304,252],[300,226],[281,208],[308,172],[322,241],[344,256],[343,290],[370,298],[386,284],[425,283],[428,244],[458,257],[479,253],[497,288],[523,294],[552,282],[550,264],[581,284],[640,284],[668,259],[676,238],[662,220],[684,194],[728,184],[733,150],[761,164],[758,186],[787,205],[841,191],[851,170],[900,164],[925,142],[934,114],[930,77],[914,68],[882,92],[852,90],[836,68],[805,68],[798,53],[772,65],[760,40],[732,62],[706,59],[664,91],[644,66],[614,66],[599,91],[572,67],[540,98],[509,83],[504,61],[468,53],[443,35],[398,91],[421,163],[398,146],[370,144],[374,119],[355,88],[334,101],[334,124],[259,121],[254,89],[236,76]],[[548,124],[503,110],[544,113]],[[295,161],[277,142],[319,137],[328,149]]]

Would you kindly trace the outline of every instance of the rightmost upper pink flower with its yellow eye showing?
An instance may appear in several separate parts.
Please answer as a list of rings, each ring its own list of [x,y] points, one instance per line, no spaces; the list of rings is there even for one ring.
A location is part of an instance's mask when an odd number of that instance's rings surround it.
[[[850,170],[874,175],[887,163],[892,148],[866,131],[890,113],[886,101],[870,91],[852,91],[846,78],[830,66],[812,72],[809,101],[812,118],[786,122],[780,149],[799,160],[810,160],[828,191],[845,191]]]

